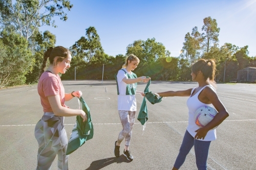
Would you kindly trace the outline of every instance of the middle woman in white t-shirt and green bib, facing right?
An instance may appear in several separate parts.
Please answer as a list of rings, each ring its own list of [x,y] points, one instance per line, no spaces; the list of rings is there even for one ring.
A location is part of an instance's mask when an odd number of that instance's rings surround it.
[[[136,74],[132,72],[137,68],[140,60],[135,55],[130,55],[126,58],[125,64],[116,75],[117,94],[118,94],[118,112],[122,124],[122,131],[119,133],[117,141],[115,141],[115,156],[120,155],[120,143],[125,138],[125,147],[123,155],[128,160],[133,160],[133,156],[129,151],[129,145],[132,137],[132,129],[135,122],[136,115],[136,98],[135,94],[140,93],[144,96],[144,92],[137,91],[137,82],[148,82],[151,78],[145,76],[137,78]]]

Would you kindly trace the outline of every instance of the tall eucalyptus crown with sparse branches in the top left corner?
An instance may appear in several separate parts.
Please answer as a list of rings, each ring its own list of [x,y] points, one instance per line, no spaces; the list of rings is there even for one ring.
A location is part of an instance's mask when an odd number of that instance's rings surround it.
[[[38,27],[57,27],[54,17],[66,21],[65,10],[72,7],[69,0],[0,0],[0,28],[13,29],[28,40]]]

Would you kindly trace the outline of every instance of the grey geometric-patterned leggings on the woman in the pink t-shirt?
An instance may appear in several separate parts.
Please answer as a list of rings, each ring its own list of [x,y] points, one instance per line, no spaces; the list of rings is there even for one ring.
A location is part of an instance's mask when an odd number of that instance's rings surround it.
[[[63,121],[64,117],[55,116],[52,112],[45,112],[36,124],[35,138],[39,145],[37,170],[50,169],[56,155],[58,155],[58,169],[69,169],[69,155],[66,155],[68,137]]]

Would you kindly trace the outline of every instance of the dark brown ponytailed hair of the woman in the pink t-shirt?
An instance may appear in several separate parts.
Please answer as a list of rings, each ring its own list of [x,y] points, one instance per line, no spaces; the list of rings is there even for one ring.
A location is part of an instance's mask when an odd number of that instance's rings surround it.
[[[40,70],[40,73],[39,73],[39,78],[42,75],[42,73],[45,71],[46,62],[47,62],[48,58],[49,58],[50,64],[52,64],[53,66],[56,66],[58,64],[58,62],[63,61],[66,57],[68,57],[68,55],[71,55],[71,52],[63,46],[56,46],[54,48],[50,47],[44,53],[44,60],[42,61],[42,66],[41,66],[41,70]],[[55,63],[53,63],[55,57],[57,57],[57,60],[56,60]]]

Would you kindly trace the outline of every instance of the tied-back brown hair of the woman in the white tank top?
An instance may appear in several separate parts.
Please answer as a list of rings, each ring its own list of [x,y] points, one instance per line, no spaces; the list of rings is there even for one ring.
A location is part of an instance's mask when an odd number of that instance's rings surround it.
[[[216,71],[215,61],[213,59],[199,59],[196,63],[192,65],[191,71],[194,72],[194,74],[197,74],[198,71],[201,71],[204,75],[205,80],[209,79],[211,82],[214,82]]]

